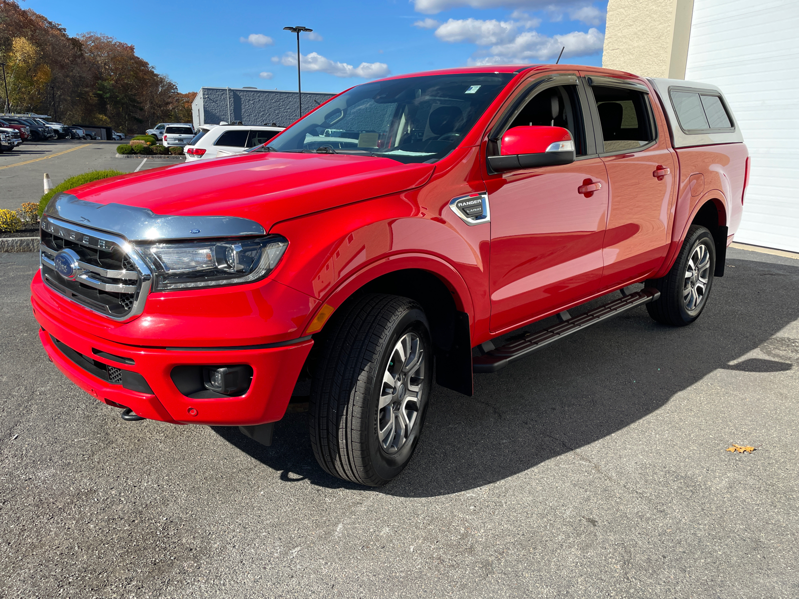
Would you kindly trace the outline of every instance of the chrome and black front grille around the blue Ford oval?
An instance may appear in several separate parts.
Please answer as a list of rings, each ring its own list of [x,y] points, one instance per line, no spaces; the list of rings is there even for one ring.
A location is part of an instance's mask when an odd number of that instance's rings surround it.
[[[127,241],[52,216],[42,216],[40,233],[42,279],[51,289],[112,319],[141,314],[151,276]],[[70,276],[56,268],[59,252],[72,256]]]

